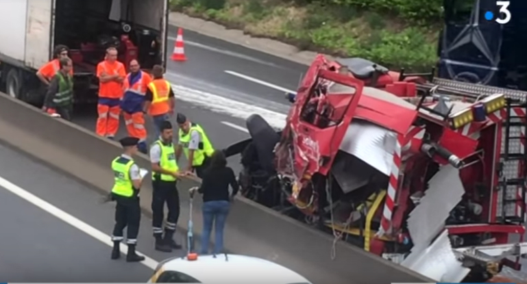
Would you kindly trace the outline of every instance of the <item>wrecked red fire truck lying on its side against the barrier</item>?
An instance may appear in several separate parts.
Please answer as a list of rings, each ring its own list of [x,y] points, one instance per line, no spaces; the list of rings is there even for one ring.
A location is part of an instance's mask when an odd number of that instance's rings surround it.
[[[526,99],[319,55],[283,129],[255,114],[225,151],[247,198],[438,282],[487,281],[527,254]]]

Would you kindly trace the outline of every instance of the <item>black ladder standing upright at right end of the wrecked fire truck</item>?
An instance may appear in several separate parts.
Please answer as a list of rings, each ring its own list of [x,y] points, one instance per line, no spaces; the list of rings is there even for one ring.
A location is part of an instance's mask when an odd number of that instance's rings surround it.
[[[522,109],[524,116],[515,115],[515,112],[513,111],[515,108]],[[504,223],[523,224],[526,216],[525,194],[527,192],[527,151],[525,151],[525,146],[513,147],[511,144],[524,144],[526,142],[525,135],[520,134],[522,131],[513,131],[513,127],[516,127],[516,129],[527,130],[527,102],[507,99],[506,111],[508,115],[504,122],[504,151],[500,156],[502,173],[500,174],[499,185],[502,194],[502,212],[501,218],[498,219]],[[511,148],[519,148],[522,150]],[[503,174],[504,167],[506,167],[506,164],[508,163],[517,163],[519,165],[519,170],[515,177],[507,177],[507,175]],[[518,194],[518,191],[520,194]],[[511,192],[514,192],[514,194],[511,194]],[[515,211],[515,214],[511,214],[511,208],[514,208],[513,211]]]

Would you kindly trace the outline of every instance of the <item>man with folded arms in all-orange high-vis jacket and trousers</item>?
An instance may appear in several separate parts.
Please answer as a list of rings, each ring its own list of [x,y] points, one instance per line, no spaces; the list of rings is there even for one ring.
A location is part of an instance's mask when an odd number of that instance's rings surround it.
[[[97,64],[99,78],[99,103],[97,104],[97,125],[95,133],[113,139],[119,129],[123,81],[126,77],[124,64],[117,61],[117,49],[106,49],[104,61]]]

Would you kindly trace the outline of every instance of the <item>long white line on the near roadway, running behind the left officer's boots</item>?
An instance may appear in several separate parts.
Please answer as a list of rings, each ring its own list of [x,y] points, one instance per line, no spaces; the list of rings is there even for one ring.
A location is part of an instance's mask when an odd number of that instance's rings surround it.
[[[83,231],[87,235],[90,235],[91,237],[95,238],[96,240],[99,240],[103,244],[107,244],[108,246],[112,247],[113,243],[111,241],[111,237],[109,235],[106,235],[105,233],[95,229],[94,227],[91,227],[89,224],[86,224],[85,222],[82,222],[82,220],[79,220],[70,214],[66,213],[65,211],[62,211],[61,209],[58,209],[54,205],[51,205],[51,203],[48,203],[47,201],[44,201],[40,199],[38,196],[27,192],[27,190],[24,190],[23,188],[19,187],[18,185],[8,181],[7,179],[4,179],[3,177],[0,177],[0,186],[2,188],[5,188],[6,190],[12,192],[13,194],[16,194],[17,196],[25,199],[25,201],[28,201],[29,203],[32,203],[36,207],[40,207],[40,209],[47,211],[47,213],[55,216],[56,218],[59,218],[60,220],[70,224],[71,226],[79,229],[80,231]],[[121,253],[126,254],[127,253],[127,246],[125,244],[121,244]],[[138,255],[143,255],[145,257],[145,260],[142,261],[145,266],[148,268],[151,268],[152,270],[156,269],[156,266],[158,266],[158,261],[155,261],[154,259],[151,259],[150,257],[147,257],[143,253],[137,252]],[[108,250],[108,255],[110,255],[110,250]],[[103,257],[108,257],[108,255],[105,255]]]

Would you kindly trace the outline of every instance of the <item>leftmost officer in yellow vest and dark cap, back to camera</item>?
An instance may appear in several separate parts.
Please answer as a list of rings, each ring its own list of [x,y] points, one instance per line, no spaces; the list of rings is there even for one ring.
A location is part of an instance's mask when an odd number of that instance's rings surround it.
[[[114,172],[114,187],[112,188],[112,200],[117,201],[115,207],[115,226],[112,233],[112,259],[121,257],[119,245],[123,240],[123,230],[127,227],[126,244],[128,253],[126,261],[143,261],[145,257],[136,254],[137,235],[139,233],[139,222],[141,210],[139,206],[139,190],[143,178],[140,169],[135,164],[132,156],[138,151],[138,138],[127,137],[119,140],[123,146],[123,155],[112,161]]]

